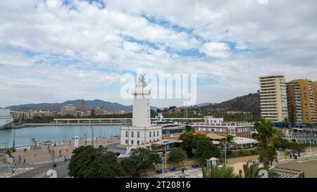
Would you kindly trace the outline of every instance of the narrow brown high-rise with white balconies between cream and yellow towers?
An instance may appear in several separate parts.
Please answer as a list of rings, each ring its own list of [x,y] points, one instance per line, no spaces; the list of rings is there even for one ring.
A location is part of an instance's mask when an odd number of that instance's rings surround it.
[[[297,82],[287,83],[288,119],[292,124],[302,124],[302,102],[300,85]]]

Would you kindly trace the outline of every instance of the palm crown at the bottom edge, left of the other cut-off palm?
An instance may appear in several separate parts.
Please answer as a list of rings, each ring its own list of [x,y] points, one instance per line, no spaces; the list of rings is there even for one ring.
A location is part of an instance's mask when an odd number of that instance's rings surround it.
[[[233,172],[233,167],[201,167],[203,178],[240,178],[242,177],[241,172],[239,175]]]

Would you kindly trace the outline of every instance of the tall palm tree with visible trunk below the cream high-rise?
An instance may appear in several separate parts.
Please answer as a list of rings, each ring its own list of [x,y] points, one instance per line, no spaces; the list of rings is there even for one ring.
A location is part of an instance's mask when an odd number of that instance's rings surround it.
[[[268,145],[276,140],[275,129],[272,128],[271,122],[266,119],[261,119],[260,122],[254,124],[254,129],[256,129],[256,134],[252,134],[252,137],[260,142],[263,153],[263,166],[268,169]]]

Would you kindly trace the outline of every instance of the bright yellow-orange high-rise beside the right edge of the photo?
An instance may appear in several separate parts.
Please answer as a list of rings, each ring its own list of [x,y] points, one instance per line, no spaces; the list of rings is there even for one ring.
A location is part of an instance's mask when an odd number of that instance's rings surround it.
[[[300,103],[302,108],[303,124],[316,123],[316,106],[313,82],[309,79],[294,79],[290,83],[295,83],[299,86]],[[289,93],[288,97],[294,96]]]

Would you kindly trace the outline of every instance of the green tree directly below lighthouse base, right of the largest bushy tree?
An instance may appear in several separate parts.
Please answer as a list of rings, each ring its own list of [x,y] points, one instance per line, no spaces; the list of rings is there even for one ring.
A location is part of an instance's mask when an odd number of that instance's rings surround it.
[[[130,158],[135,160],[137,171],[143,170],[145,175],[147,175],[147,169],[154,169],[160,161],[159,154],[152,153],[146,148],[132,149]]]

